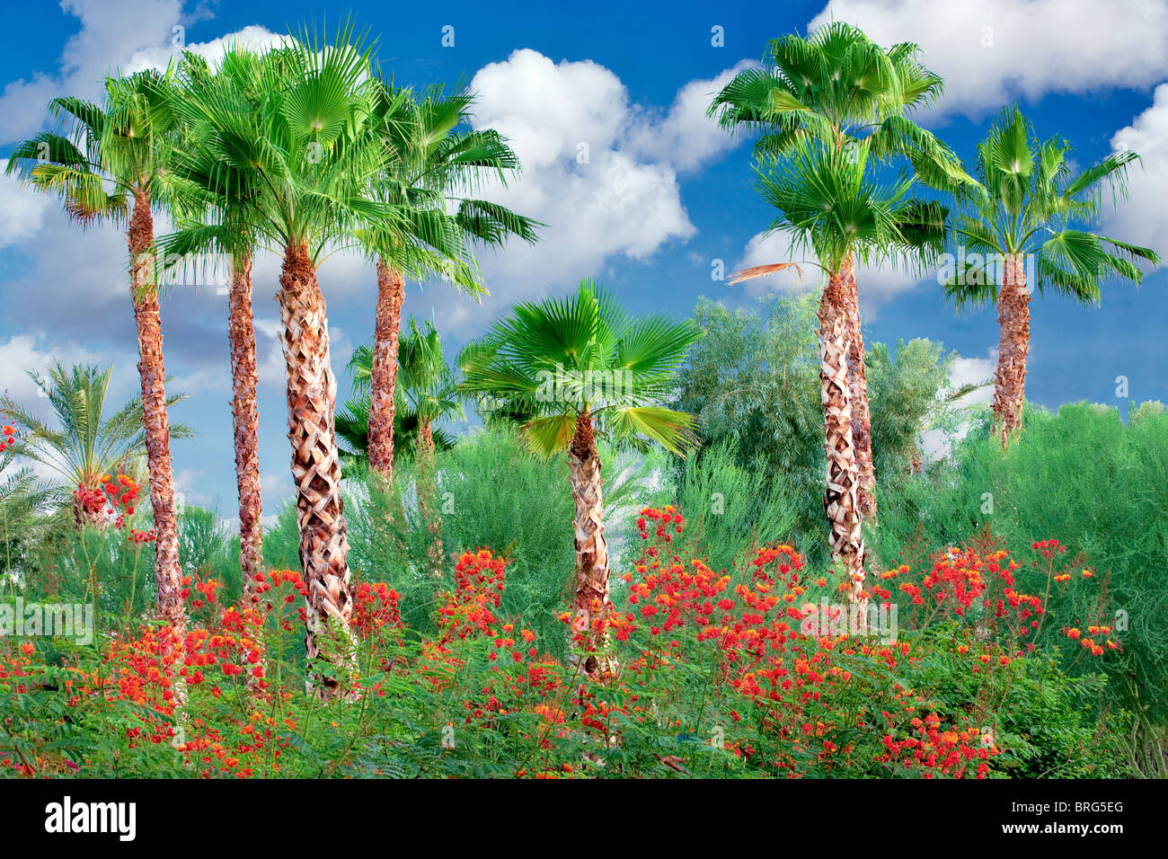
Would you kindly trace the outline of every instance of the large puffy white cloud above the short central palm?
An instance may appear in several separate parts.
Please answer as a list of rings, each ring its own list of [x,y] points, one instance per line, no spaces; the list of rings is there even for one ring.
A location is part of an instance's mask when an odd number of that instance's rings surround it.
[[[646,261],[690,238],[677,173],[736,145],[705,119],[704,105],[738,68],[687,83],[663,112],[630,104],[620,79],[586,60],[555,63],[522,49],[480,69],[471,82],[474,126],[509,138],[523,165],[517,180],[484,196],[548,226],[534,248],[510,242],[484,254],[487,309],[444,303],[443,326],[478,327],[506,303],[603,277],[613,257]]]

